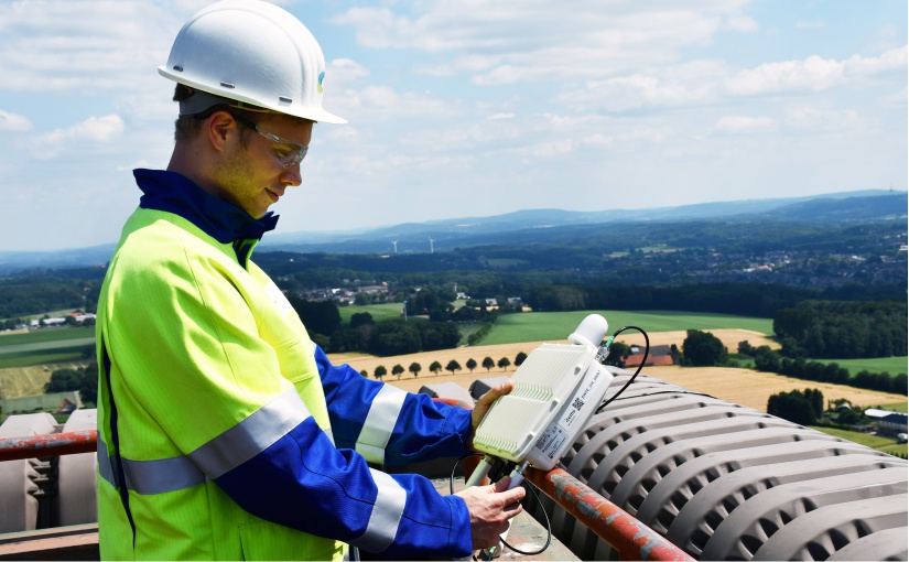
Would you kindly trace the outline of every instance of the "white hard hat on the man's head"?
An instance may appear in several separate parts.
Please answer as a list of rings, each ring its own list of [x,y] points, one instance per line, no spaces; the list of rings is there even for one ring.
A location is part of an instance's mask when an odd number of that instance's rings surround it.
[[[186,106],[192,110],[181,104],[181,114],[226,98],[313,121],[347,122],[322,108],[325,57],[315,37],[292,14],[261,0],[221,0],[196,12],[158,72],[196,94],[214,95],[198,96]]]

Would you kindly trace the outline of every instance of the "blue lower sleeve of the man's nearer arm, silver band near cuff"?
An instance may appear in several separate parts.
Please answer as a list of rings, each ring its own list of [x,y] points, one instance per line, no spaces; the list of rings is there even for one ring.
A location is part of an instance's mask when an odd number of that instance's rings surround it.
[[[291,410],[305,410],[295,392],[283,399]],[[280,408],[272,402],[255,415]],[[244,439],[226,446],[242,447]],[[215,482],[253,515],[387,559],[470,553],[470,518],[461,498],[440,495],[419,475],[370,468],[356,452],[335,448],[312,417]]]

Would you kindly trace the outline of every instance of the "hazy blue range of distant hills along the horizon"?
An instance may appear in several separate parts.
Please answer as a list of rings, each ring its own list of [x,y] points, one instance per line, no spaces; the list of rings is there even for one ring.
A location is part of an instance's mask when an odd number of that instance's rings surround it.
[[[484,245],[522,245],[560,240],[567,242],[596,225],[615,228],[634,223],[727,223],[803,220],[811,223],[863,223],[906,220],[907,193],[884,190],[772,199],[703,203],[650,209],[575,212],[526,209],[491,217],[467,217],[335,233],[272,234],[257,252],[293,251],[328,253],[426,253]],[[115,244],[56,251],[0,252],[0,275],[34,268],[102,266]]]

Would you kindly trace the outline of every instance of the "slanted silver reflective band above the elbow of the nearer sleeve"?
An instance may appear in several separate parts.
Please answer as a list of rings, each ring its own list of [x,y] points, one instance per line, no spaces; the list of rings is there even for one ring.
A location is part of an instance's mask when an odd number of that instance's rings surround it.
[[[293,388],[252,415],[190,453],[193,463],[215,479],[240,466],[286,435],[310,410]]]

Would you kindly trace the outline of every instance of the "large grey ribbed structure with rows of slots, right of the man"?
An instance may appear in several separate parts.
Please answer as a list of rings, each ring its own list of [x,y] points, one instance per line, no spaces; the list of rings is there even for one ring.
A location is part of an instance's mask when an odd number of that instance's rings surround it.
[[[613,372],[607,398],[630,377]],[[906,461],[652,377],[595,415],[563,465],[696,559],[906,560]],[[580,558],[617,560],[544,509]]]

